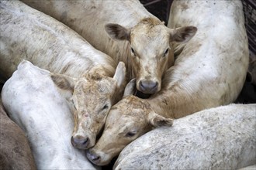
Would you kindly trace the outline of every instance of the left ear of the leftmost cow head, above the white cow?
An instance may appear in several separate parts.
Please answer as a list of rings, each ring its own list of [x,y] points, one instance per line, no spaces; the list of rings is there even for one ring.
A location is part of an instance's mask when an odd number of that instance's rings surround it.
[[[72,78],[71,76],[66,76],[63,74],[57,73],[50,73],[50,78],[54,81],[57,87],[62,90],[70,90],[74,91],[74,84],[76,79]]]

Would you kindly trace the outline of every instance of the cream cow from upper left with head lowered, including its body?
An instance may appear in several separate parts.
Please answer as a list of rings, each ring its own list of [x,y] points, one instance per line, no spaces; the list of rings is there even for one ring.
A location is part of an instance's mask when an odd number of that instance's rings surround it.
[[[70,92],[72,144],[92,147],[110,107],[123,96],[124,63],[116,66],[76,32],[22,2],[1,1],[0,8],[0,75],[8,79],[22,59],[52,72],[57,87]]]

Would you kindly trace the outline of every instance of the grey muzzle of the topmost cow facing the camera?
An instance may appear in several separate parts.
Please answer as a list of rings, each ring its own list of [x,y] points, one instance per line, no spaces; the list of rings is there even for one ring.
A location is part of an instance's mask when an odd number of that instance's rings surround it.
[[[152,80],[140,80],[139,90],[143,93],[156,93],[158,89],[158,83]]]

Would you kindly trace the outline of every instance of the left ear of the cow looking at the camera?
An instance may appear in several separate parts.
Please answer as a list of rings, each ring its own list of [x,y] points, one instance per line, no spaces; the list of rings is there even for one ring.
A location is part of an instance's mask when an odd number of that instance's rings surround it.
[[[118,24],[109,23],[106,24],[105,30],[112,39],[130,41],[130,29],[126,29]]]

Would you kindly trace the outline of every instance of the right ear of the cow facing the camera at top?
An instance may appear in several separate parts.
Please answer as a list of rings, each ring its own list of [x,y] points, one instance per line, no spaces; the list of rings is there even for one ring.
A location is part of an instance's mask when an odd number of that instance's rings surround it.
[[[195,33],[197,32],[197,28],[195,26],[183,26],[170,30],[171,42],[188,42],[193,36],[195,36]]]

